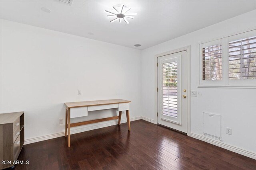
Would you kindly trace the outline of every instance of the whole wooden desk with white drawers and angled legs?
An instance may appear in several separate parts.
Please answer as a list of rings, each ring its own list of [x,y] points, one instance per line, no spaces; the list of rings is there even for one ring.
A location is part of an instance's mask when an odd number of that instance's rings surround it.
[[[68,147],[70,147],[70,127],[76,127],[81,125],[88,125],[91,123],[98,123],[102,121],[118,119],[118,125],[120,125],[122,111],[126,111],[128,130],[130,127],[130,102],[128,100],[113,99],[113,100],[97,100],[88,102],[71,102],[65,103],[66,105],[66,121],[65,121],[65,136],[67,136],[68,129]],[[102,119],[95,119],[89,121],[82,121],[78,123],[70,123],[70,118],[83,117],[88,115],[88,111],[104,110],[104,109],[115,109],[119,111],[118,116],[106,117]]]

